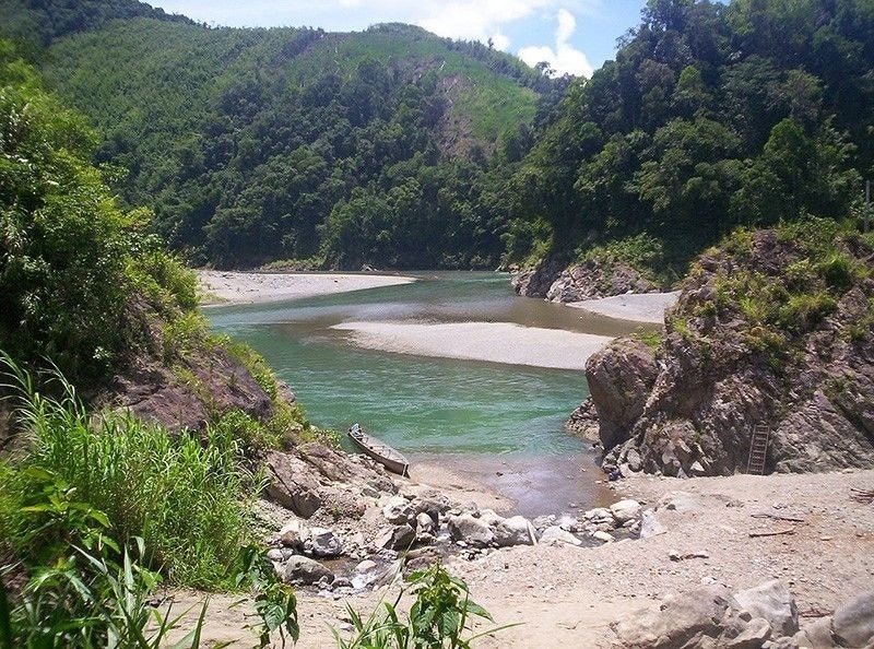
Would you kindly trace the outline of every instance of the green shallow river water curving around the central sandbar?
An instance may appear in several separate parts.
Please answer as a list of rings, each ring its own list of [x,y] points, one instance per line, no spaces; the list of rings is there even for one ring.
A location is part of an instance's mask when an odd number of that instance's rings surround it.
[[[550,510],[550,502],[599,499],[594,481],[602,475],[589,445],[563,429],[588,394],[581,371],[362,350],[329,328],[388,319],[505,321],[617,335],[634,326],[517,297],[498,273],[428,273],[415,284],[214,307],[206,315],[216,329],[263,354],[320,426],[345,430],[361,422],[412,461],[444,457],[453,469],[475,467],[477,476],[527,514]],[[571,460],[591,471],[553,480]],[[501,471],[501,463],[513,471]],[[498,472],[515,474],[516,486],[498,480]],[[567,480],[570,491],[558,488]]]

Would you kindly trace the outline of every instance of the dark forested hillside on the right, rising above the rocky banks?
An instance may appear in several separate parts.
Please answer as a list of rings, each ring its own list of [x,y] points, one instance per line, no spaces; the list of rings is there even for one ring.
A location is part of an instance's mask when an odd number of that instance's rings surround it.
[[[651,0],[515,172],[511,258],[605,244],[682,272],[737,225],[847,216],[874,164],[872,66],[869,1]]]

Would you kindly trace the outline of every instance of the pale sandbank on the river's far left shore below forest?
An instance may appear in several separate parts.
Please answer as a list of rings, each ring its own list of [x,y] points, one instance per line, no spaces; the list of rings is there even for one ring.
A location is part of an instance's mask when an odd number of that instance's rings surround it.
[[[198,271],[208,304],[279,302],[415,282],[401,275]],[[217,299],[216,299],[217,298]]]

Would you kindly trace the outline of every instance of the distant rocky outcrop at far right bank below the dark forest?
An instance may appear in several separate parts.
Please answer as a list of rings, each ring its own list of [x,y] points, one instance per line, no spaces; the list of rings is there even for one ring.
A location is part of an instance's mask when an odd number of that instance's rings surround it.
[[[570,267],[555,259],[546,260],[535,268],[520,271],[513,275],[511,283],[519,295],[559,303],[661,290],[627,263],[601,260],[588,260]]]

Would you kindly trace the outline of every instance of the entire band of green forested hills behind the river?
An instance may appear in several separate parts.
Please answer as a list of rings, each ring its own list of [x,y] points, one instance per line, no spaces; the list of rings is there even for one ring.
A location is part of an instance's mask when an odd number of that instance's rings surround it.
[[[43,25],[27,47],[102,134],[107,178],[194,263],[607,257],[670,281],[737,225],[857,214],[874,164],[863,0],[651,0],[616,60],[571,83],[406,25],[4,9],[19,36]]]

